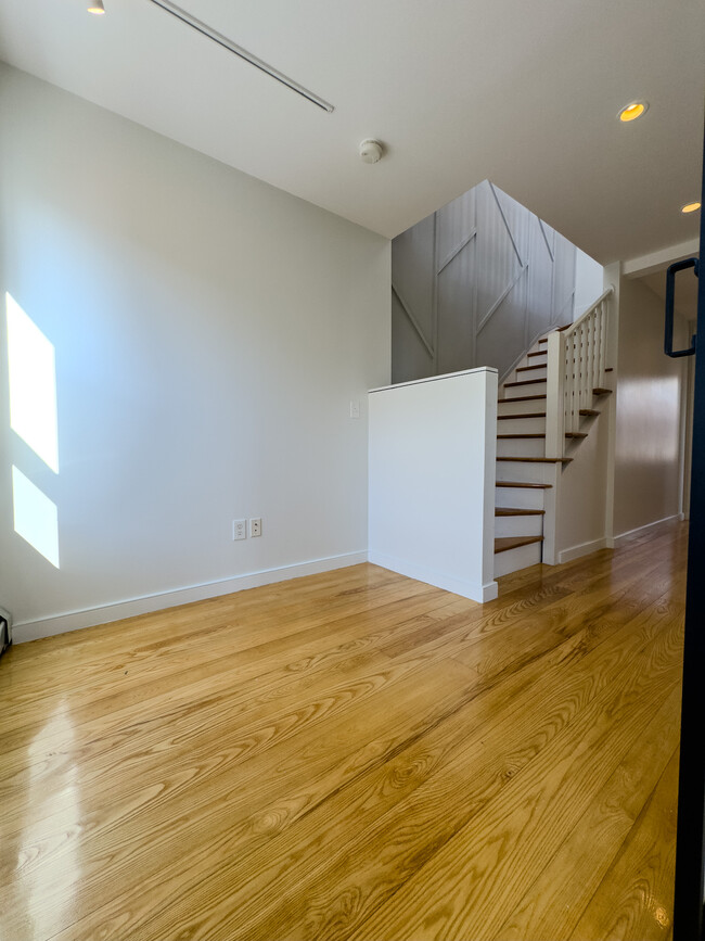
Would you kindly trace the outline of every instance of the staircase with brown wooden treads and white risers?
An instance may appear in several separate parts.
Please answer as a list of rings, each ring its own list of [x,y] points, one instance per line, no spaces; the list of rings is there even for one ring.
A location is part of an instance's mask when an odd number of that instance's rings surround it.
[[[569,327],[571,325],[568,325]],[[566,330],[568,327],[562,327]],[[495,489],[495,577],[542,559],[548,492],[556,468],[572,456],[546,454],[548,336],[539,340],[500,387],[497,406],[497,485]],[[611,371],[608,369],[605,372]],[[589,408],[580,408],[580,430],[565,434],[573,455],[600,415],[601,396],[592,389]],[[585,430],[584,427],[585,425]]]

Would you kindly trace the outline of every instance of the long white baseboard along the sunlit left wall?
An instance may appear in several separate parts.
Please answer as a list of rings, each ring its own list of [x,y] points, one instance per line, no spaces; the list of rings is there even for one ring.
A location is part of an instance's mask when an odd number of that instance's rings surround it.
[[[14,644],[23,644],[27,640],[37,640],[40,637],[51,637],[54,634],[65,634],[81,627],[93,627],[95,624],[121,621],[124,618],[133,618],[136,614],[150,614],[164,608],[176,608],[178,605],[204,601],[219,595],[243,592],[245,588],[257,588],[260,585],[285,582],[289,578],[300,578],[303,575],[317,575],[319,572],[330,572],[333,569],[344,569],[367,561],[367,552],[346,552],[342,556],[329,556],[324,559],[312,559],[293,565],[262,569],[259,572],[220,578],[216,582],[203,582],[198,585],[190,585],[170,592],[157,592],[154,595],[143,595],[139,598],[101,605],[97,608],[69,611],[65,614],[41,618],[37,621],[20,621],[13,624],[12,639]]]

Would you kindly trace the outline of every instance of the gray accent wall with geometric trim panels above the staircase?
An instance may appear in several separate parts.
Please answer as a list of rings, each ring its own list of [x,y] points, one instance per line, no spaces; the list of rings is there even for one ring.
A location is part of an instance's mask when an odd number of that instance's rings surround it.
[[[392,381],[493,366],[574,315],[576,246],[488,180],[392,242]],[[582,254],[582,253],[580,253]]]

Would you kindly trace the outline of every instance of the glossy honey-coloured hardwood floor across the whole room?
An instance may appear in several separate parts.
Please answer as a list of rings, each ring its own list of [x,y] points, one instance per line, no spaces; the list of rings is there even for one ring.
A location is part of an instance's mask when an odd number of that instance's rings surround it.
[[[0,937],[669,938],[685,538],[485,606],[364,564],[15,647]]]

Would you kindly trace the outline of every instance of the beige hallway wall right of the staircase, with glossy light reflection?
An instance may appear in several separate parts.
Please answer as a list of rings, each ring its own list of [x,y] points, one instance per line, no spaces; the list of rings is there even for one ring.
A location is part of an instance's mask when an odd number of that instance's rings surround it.
[[[619,284],[614,535],[679,512],[682,359],[664,355],[663,301]]]

